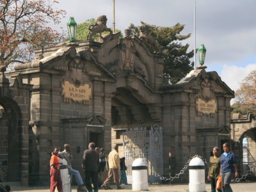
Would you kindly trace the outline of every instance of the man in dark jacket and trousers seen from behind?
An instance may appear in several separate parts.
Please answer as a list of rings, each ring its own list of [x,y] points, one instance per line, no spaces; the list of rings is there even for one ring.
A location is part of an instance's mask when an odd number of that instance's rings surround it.
[[[98,192],[98,167],[99,167],[99,153],[96,152],[95,143],[89,143],[89,149],[84,150],[83,169],[84,169],[84,183],[89,192],[92,192],[92,183],[94,192]]]

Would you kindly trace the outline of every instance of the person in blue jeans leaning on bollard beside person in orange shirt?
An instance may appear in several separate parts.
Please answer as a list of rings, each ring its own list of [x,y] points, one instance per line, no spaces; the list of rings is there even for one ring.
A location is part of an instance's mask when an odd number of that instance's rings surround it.
[[[71,150],[69,144],[64,145],[64,150],[63,150],[63,152],[60,152],[60,156],[63,157],[67,161],[70,186],[72,184],[72,175],[75,175],[78,189],[84,190],[85,189],[84,182],[83,182],[83,179],[82,179],[79,171],[72,169],[71,163],[74,158],[73,158],[72,150]]]

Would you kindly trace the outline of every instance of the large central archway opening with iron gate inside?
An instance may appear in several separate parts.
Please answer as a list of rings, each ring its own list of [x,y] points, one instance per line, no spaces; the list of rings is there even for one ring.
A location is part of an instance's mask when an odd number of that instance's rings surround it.
[[[157,182],[154,173],[163,173],[161,118],[154,116],[156,110],[152,110],[147,97],[138,93],[146,90],[143,86],[139,91],[131,86],[119,87],[111,101],[112,144],[117,144],[119,156],[125,157],[129,183],[132,162],[137,158],[143,158],[147,164],[149,182]]]

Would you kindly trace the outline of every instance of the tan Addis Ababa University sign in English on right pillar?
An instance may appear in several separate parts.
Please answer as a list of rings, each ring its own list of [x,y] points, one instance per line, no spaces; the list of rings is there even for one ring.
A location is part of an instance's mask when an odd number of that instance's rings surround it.
[[[209,100],[208,102],[205,102],[203,99],[198,99],[196,100],[197,104],[197,111],[198,113],[205,113],[205,114],[211,114],[211,113],[216,113],[217,111],[217,105],[216,105],[216,100],[212,99]]]

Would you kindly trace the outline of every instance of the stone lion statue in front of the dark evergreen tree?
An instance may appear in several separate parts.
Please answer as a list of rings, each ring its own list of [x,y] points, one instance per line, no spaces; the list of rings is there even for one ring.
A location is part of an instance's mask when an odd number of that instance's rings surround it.
[[[149,31],[148,27],[145,24],[143,24],[143,25],[139,26],[139,29],[140,29],[139,38],[141,40],[143,40],[147,45],[149,45],[153,49],[154,52],[159,52],[160,45],[157,42],[157,40],[152,35],[150,35],[150,31]]]

